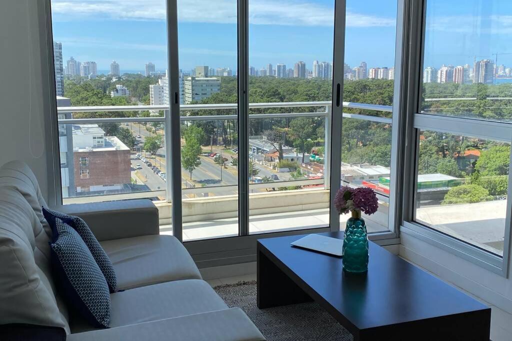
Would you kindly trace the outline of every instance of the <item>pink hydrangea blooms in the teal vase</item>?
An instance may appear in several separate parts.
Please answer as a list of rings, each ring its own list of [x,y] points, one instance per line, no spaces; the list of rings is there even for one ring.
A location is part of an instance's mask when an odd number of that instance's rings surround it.
[[[370,215],[377,212],[378,200],[371,188],[343,186],[336,193],[334,206],[339,214],[346,214],[357,210]]]

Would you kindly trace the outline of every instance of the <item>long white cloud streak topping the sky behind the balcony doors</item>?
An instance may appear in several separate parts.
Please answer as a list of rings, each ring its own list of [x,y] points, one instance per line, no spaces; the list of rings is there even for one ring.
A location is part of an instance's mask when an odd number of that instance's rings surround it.
[[[53,0],[52,12],[57,20],[86,17],[117,20],[164,20],[164,0]],[[254,25],[332,26],[333,7],[307,0],[262,0],[249,4],[249,21]],[[234,0],[178,1],[178,20],[181,22],[211,22],[233,24],[237,20]],[[349,27],[395,26],[394,18],[379,17],[347,11]]]

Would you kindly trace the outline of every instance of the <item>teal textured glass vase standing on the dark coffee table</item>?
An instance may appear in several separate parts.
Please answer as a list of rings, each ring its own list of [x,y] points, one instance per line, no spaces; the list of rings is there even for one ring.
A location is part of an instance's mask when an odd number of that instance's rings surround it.
[[[347,272],[368,271],[368,234],[360,211],[352,211],[343,240],[343,269]]]

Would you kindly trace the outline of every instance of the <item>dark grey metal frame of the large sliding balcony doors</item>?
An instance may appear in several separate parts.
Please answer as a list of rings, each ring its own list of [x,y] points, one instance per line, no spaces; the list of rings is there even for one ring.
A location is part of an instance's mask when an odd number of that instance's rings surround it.
[[[360,119],[367,119],[376,122],[388,122],[392,120],[392,146],[391,146],[391,179],[392,188],[390,195],[390,210],[388,217],[388,228],[389,231],[381,233],[373,233],[369,235],[369,239],[375,241],[380,245],[393,245],[399,243],[399,225],[400,225],[400,205],[401,202],[401,179],[399,171],[399,163],[401,162],[401,137],[399,136],[402,121],[404,118],[404,103],[406,103],[407,87],[404,83],[404,77],[402,77],[402,69],[407,66],[407,60],[404,59],[404,53],[407,51],[408,46],[408,31],[410,19],[407,17],[407,3],[412,0],[396,0],[397,1],[397,18],[396,18],[396,40],[395,40],[395,77],[394,77],[394,99],[392,118],[385,119],[380,117],[366,117]],[[47,46],[53,46],[53,34],[52,34],[52,21],[51,21],[51,0],[45,0],[40,2],[42,5],[38,6],[38,12],[41,19],[42,25],[45,27],[45,40]],[[186,241],[184,245],[189,249],[193,257],[208,266],[219,266],[224,264],[232,264],[234,262],[254,261],[255,260],[255,243],[254,241],[260,238],[268,238],[281,235],[297,235],[305,233],[320,233],[325,231],[339,231],[339,216],[334,208],[333,199],[336,191],[330,191],[330,224],[325,228],[315,229],[302,229],[302,230],[291,230],[287,232],[278,233],[267,233],[267,234],[249,234],[249,158],[248,158],[248,75],[249,75],[249,64],[248,64],[248,0],[237,0],[237,11],[238,11],[238,70],[246,70],[246,72],[238,74],[238,103],[237,103],[237,120],[238,120],[238,136],[239,136],[239,235],[234,237],[222,237],[212,238],[204,240]],[[177,19],[177,0],[166,0],[166,26],[167,26],[167,51],[173,52],[178,51],[178,19]],[[334,2],[334,47],[333,47],[333,65],[344,65],[344,49],[345,49],[345,21],[346,21],[346,0],[335,0]],[[48,77],[48,92],[45,95],[50,98],[48,105],[48,116],[52,119],[49,120],[51,124],[52,133],[58,136],[58,121],[57,121],[57,105],[55,95],[55,75],[53,74],[53,49],[48,48],[46,52],[42,52],[46,55],[47,62],[49,65]],[[169,88],[179,89],[179,64],[178,54],[168,53],[168,70],[169,70]],[[407,71],[407,70],[406,70]],[[342,131],[342,117],[357,118],[356,114],[344,114],[343,107],[343,79],[344,69],[343,67],[333,66],[333,87],[332,87],[332,100],[328,106],[328,112],[326,114],[326,132],[331,131],[330,136],[326,137],[326,189],[339,188],[340,179],[340,167],[330,167],[330,165],[340,165],[341,158],[339,153],[332,153],[332,150],[340,150],[341,148],[341,134]],[[337,88],[334,84],[340,85],[340,98],[336,105],[336,92]],[[174,95],[174,96],[173,96]],[[166,166],[168,173],[168,181],[165,188],[167,193],[167,201],[173,202],[172,205],[172,225],[173,234],[180,241],[182,238],[182,189],[181,189],[181,149],[180,149],[180,101],[179,92],[173,92],[169,94],[172,100],[169,101],[169,106],[164,110],[163,118],[148,118],[144,119],[144,122],[161,121],[165,128],[165,144],[167,148]],[[349,103],[352,104],[352,103]],[[358,104],[358,103],[354,103]],[[361,104],[365,105],[365,104]],[[370,105],[369,105],[370,106]],[[378,110],[378,106],[373,106],[373,109]],[[334,109],[336,108],[336,109]],[[359,115],[360,116],[360,115]],[[62,123],[69,124],[68,120],[63,120]],[[73,122],[80,123],[80,120],[73,120]],[[110,119],[111,122],[138,122],[137,118],[119,118]],[[86,121],[83,121],[86,122]],[[141,121],[142,122],[142,121]],[[334,133],[335,132],[335,133]],[[51,134],[49,134],[51,135]],[[49,145],[55,146],[55,139],[49,137]],[[58,141],[57,141],[58,143]],[[59,165],[59,154],[54,151],[58,150],[53,148],[52,164]],[[173,155],[173,157],[170,157]],[[329,163],[330,162],[330,163]],[[49,165],[49,173],[52,186],[52,192],[50,193],[50,202],[53,207],[59,208],[62,206],[62,195],[60,189],[60,165],[57,168],[59,172],[55,172]],[[328,168],[328,169],[327,169]],[[56,180],[58,178],[58,181]],[[53,180],[55,179],[55,180]],[[157,193],[158,191],[151,192]],[[160,191],[163,192],[163,191]],[[331,214],[332,213],[332,214]],[[243,245],[243,246],[242,246]],[[222,257],[219,255],[222,254]]]

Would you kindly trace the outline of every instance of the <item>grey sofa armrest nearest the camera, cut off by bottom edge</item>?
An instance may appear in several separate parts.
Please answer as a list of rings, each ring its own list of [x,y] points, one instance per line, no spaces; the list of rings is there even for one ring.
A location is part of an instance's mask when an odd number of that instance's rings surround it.
[[[265,341],[240,308],[68,335],[68,341]]]

